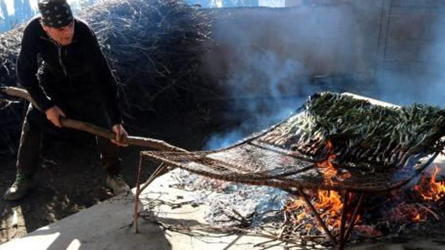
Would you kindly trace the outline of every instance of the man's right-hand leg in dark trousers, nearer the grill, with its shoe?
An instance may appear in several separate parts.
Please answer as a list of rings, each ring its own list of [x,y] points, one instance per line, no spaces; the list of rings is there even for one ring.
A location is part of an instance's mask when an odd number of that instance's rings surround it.
[[[129,192],[130,187],[125,183],[120,174],[119,147],[103,137],[97,136],[96,141],[101,154],[103,170],[107,173],[107,185],[113,189],[114,195]]]

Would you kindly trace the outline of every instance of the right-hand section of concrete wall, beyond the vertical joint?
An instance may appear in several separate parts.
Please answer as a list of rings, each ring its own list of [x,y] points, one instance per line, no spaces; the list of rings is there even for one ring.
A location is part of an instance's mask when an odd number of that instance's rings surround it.
[[[445,83],[445,1],[385,0],[384,5],[377,84],[383,92],[399,93],[401,103],[445,97],[440,94]]]

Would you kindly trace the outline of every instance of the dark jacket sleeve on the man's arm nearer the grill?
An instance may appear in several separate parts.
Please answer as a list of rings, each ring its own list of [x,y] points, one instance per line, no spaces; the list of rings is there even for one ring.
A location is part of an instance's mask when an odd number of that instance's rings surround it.
[[[91,48],[91,58],[98,68],[98,74],[100,76],[100,84],[103,84],[103,89],[105,91],[105,97],[107,101],[107,106],[109,110],[110,120],[112,125],[122,123],[122,114],[119,109],[119,95],[117,92],[116,78],[111,72],[110,66],[101,51],[99,42],[94,31],[87,27],[88,41],[90,42],[89,47]]]

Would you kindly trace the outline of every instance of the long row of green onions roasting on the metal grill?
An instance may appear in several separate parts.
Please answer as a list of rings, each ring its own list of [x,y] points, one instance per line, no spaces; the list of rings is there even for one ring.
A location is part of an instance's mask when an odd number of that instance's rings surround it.
[[[399,167],[410,157],[441,152],[444,146],[445,110],[438,107],[384,107],[323,92],[309,97],[304,109],[288,123],[285,143],[305,155]]]

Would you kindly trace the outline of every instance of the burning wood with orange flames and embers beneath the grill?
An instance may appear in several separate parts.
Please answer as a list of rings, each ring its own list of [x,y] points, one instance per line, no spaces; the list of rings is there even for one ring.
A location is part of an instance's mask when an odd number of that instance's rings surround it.
[[[320,166],[330,168],[332,163],[324,161]],[[437,181],[438,167],[430,177],[423,175],[419,183],[406,190],[395,190],[389,197],[378,202],[377,206],[366,209],[364,216],[359,215],[355,219],[354,235],[357,237],[380,238],[394,237],[406,230],[407,225],[427,223],[434,219],[439,221],[440,214],[434,211],[443,209],[445,201],[445,182]],[[343,209],[343,197],[337,191],[318,190],[307,193],[314,207],[319,212],[323,222],[334,234],[339,233],[341,223],[341,211]],[[351,198],[351,197],[349,197]],[[383,197],[382,197],[383,198]],[[370,204],[375,202],[369,201]],[[350,205],[348,205],[350,206]],[[293,233],[299,236],[323,234],[320,225],[314,222],[310,210],[301,196],[292,197],[284,207],[285,226],[283,232],[289,231],[286,227],[293,228]],[[351,214],[347,213],[346,218]],[[295,232],[296,231],[296,232]],[[289,237],[282,233],[282,237]],[[326,241],[319,241],[326,243]]]

